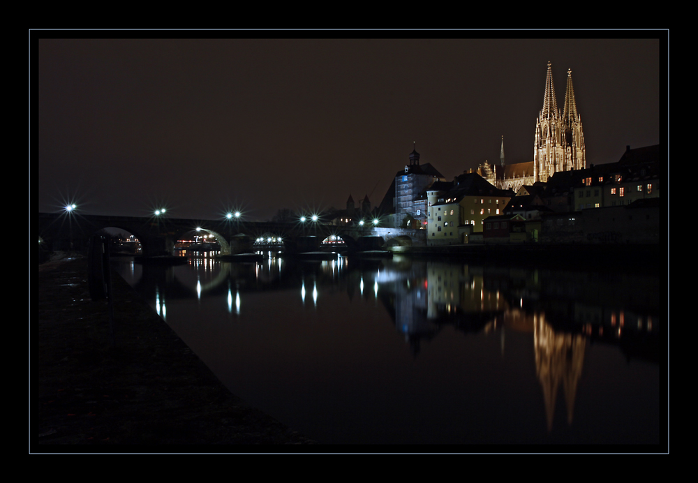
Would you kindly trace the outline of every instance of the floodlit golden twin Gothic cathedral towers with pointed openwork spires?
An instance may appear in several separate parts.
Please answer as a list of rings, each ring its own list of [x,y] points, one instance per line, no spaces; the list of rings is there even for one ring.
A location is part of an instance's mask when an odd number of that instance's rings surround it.
[[[543,107],[535,123],[533,171],[535,181],[547,181],[558,171],[586,168],[586,150],[581,118],[572,88],[572,71],[567,70],[565,107],[558,109],[550,62],[545,80]]]

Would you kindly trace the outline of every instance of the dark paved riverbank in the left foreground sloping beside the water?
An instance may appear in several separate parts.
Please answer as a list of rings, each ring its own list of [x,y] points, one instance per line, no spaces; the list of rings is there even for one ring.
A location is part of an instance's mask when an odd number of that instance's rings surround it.
[[[112,276],[112,336],[109,305],[89,297],[86,258],[46,262],[35,276],[30,452],[295,452],[288,445],[315,443],[230,394],[121,277]]]

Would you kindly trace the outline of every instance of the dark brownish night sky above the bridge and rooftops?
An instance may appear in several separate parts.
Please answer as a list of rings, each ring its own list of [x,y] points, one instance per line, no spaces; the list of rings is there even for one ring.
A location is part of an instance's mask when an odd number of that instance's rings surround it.
[[[447,179],[498,162],[502,136],[507,163],[533,161],[548,61],[560,108],[572,69],[587,163],[658,144],[666,107],[657,39],[42,38],[36,52],[39,211],[378,205],[413,142]]]

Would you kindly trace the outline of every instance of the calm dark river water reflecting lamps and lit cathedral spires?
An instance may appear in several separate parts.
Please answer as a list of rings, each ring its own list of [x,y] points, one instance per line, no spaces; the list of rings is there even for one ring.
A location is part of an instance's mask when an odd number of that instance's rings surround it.
[[[320,443],[664,440],[657,274],[276,253],[113,262],[230,392]]]

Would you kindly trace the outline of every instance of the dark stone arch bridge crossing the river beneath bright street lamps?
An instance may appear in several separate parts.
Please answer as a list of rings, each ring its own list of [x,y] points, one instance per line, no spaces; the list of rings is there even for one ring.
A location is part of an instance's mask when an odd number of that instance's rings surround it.
[[[47,251],[87,249],[89,238],[104,228],[118,228],[135,235],[145,256],[172,255],[175,242],[195,231],[213,235],[221,245],[222,255],[248,253],[261,237],[281,238],[289,252],[318,250],[322,241],[332,235],[341,238],[348,251],[378,250],[386,245],[426,246],[426,230],[313,221],[274,223],[66,213],[40,213],[37,221],[40,244]]]

